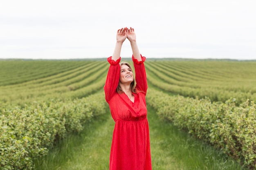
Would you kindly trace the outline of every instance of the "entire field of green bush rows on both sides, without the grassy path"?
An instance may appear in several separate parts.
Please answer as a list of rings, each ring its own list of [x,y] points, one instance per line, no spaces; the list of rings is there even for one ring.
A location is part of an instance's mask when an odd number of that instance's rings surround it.
[[[147,104],[159,121],[255,169],[256,62],[151,59],[145,66]],[[0,60],[0,168],[31,169],[58,141],[108,113],[108,67],[105,60]]]

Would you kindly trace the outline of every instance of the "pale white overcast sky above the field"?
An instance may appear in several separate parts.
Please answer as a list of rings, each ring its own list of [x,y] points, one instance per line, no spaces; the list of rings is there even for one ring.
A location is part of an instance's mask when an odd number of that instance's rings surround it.
[[[0,59],[107,58],[135,29],[148,58],[256,60],[255,0],[5,0]],[[131,57],[130,43],[121,57]]]

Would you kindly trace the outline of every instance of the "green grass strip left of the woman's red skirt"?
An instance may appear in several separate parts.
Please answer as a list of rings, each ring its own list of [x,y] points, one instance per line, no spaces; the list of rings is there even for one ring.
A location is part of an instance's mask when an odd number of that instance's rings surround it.
[[[110,113],[88,122],[37,160],[35,170],[108,170],[114,126]]]

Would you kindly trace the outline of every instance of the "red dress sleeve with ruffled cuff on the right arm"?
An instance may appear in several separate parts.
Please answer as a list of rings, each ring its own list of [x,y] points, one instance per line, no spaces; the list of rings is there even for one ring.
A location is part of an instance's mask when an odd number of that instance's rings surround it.
[[[142,61],[138,61],[132,55],[132,61],[135,68],[136,89],[138,91],[143,91],[146,94],[148,89],[146,70],[144,66],[144,61],[146,60],[146,57],[142,57],[142,55],[140,56]]]

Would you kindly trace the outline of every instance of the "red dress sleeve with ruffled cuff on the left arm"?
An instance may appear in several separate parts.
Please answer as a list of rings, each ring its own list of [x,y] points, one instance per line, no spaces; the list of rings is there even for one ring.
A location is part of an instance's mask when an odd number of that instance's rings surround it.
[[[120,77],[119,62],[120,62],[120,60],[121,60],[121,57],[119,57],[119,59],[117,59],[117,61],[112,60],[112,57],[108,57],[108,62],[110,64],[110,67],[108,69],[108,75],[107,75],[106,83],[104,85],[105,99],[107,102],[115,94],[118,83],[119,83],[119,77]]]

